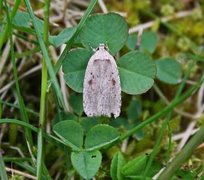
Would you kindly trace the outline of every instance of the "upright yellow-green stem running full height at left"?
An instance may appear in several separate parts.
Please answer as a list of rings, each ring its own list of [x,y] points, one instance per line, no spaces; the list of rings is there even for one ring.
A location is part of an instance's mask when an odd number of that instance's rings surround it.
[[[44,41],[48,48],[48,32],[49,32],[49,7],[50,0],[45,1],[44,7]],[[40,98],[40,119],[38,132],[38,151],[37,151],[37,179],[42,179],[43,171],[43,128],[45,124],[45,107],[46,107],[46,90],[47,90],[47,67],[45,59],[42,61],[42,77],[41,77],[41,98]]]

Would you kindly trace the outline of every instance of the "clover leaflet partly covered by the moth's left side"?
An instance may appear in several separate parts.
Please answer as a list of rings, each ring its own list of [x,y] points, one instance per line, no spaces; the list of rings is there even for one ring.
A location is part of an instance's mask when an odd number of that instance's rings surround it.
[[[67,53],[62,64],[64,79],[67,85],[76,92],[82,93],[86,66],[92,55],[91,51],[75,49]]]

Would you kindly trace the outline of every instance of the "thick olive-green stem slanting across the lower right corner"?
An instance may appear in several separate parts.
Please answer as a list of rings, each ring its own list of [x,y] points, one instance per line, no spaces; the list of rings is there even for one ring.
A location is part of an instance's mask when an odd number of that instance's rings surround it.
[[[169,179],[180,168],[180,166],[193,154],[194,150],[204,141],[204,126],[190,139],[180,153],[167,165],[158,177],[158,180]]]

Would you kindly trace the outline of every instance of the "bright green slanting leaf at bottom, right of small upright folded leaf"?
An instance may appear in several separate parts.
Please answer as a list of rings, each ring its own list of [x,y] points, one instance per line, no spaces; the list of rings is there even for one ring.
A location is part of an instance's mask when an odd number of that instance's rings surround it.
[[[147,155],[140,155],[127,162],[122,168],[122,173],[125,176],[141,175],[145,170],[146,163]]]

